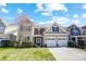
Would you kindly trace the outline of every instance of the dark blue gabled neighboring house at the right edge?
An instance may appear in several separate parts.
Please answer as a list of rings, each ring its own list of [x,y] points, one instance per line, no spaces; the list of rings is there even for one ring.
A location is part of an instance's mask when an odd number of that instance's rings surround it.
[[[75,24],[72,24],[70,27],[67,27],[69,37],[71,41],[78,42],[78,40],[86,41],[86,26],[78,27]]]

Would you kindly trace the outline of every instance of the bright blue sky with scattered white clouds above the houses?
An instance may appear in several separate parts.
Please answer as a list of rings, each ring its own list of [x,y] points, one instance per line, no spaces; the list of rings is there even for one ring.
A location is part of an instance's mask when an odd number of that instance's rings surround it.
[[[84,3],[0,3],[0,17],[14,24],[17,14],[25,13],[35,24],[58,22],[63,26],[86,25],[86,4]]]

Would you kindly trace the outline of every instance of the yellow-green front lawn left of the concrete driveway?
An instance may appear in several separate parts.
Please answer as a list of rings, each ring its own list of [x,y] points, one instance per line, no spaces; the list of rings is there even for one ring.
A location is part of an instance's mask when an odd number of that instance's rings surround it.
[[[0,48],[0,61],[56,61],[47,48]]]

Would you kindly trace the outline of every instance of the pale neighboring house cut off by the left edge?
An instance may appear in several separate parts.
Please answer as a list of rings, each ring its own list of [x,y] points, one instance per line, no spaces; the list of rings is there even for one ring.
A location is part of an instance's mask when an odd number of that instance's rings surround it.
[[[2,40],[16,41],[16,36],[14,35],[14,30],[16,31],[16,29],[14,29],[15,26],[12,26],[8,25],[3,18],[0,18],[0,46],[2,46]]]

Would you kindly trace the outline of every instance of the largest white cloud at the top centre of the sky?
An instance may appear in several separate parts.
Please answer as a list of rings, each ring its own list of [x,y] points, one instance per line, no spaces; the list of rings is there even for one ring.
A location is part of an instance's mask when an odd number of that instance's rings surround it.
[[[64,4],[60,4],[60,3],[38,3],[36,4],[37,10],[35,11],[37,12],[41,12],[42,15],[49,15],[50,13],[52,14],[53,11],[64,11],[67,12],[67,9],[65,8]]]

